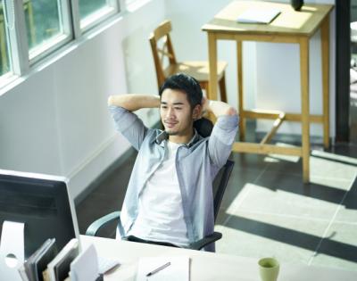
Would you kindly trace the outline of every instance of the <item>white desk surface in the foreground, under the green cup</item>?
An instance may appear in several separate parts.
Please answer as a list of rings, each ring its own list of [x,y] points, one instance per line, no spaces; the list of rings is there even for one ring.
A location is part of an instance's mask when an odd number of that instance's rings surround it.
[[[138,244],[107,238],[80,236],[82,248],[95,245],[99,256],[120,260],[121,266],[104,276],[104,281],[135,280],[140,257],[188,255],[190,280],[251,280],[260,281],[258,259],[234,255],[178,249],[152,244]],[[356,281],[357,271],[287,264],[280,260],[278,281]]]

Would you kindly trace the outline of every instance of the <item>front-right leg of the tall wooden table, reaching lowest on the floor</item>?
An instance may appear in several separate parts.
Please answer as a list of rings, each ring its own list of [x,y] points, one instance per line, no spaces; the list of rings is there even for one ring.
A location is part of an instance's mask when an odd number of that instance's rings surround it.
[[[310,100],[309,100],[309,38],[300,39],[300,79],[302,91],[303,182],[310,181]]]

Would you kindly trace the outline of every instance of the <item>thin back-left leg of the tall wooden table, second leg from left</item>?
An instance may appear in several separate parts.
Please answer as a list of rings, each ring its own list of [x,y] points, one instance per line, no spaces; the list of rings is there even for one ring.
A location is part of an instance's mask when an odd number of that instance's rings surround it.
[[[238,81],[238,111],[239,111],[239,140],[245,141],[245,115],[243,96],[243,46],[237,41],[237,81]]]

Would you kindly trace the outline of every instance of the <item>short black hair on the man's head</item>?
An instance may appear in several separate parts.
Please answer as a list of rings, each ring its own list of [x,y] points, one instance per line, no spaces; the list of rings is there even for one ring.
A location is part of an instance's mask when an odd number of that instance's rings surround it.
[[[187,101],[191,105],[192,110],[197,104],[202,103],[203,94],[200,83],[185,73],[174,74],[166,79],[165,82],[163,82],[162,87],[160,87],[160,97],[165,89],[179,90],[186,93]]]

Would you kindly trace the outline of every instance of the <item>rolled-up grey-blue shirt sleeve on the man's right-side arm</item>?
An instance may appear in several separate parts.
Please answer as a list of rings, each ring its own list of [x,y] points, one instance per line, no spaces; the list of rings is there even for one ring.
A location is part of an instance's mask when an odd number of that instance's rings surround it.
[[[232,150],[238,130],[238,115],[220,116],[212,129],[208,141],[210,160],[218,167],[222,167]]]

